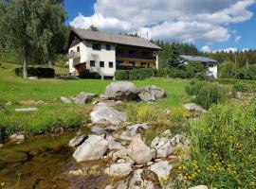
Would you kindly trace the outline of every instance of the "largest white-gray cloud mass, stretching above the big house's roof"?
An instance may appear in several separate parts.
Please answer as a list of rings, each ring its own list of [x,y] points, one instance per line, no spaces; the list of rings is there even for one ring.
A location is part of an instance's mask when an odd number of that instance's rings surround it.
[[[227,42],[229,24],[247,21],[255,0],[97,0],[95,13],[81,14],[70,25],[116,32],[147,32],[153,39],[182,42]]]

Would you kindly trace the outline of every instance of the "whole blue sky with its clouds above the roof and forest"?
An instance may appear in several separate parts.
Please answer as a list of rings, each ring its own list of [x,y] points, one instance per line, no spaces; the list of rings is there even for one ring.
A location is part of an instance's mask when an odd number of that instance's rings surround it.
[[[149,32],[154,39],[194,43],[205,50],[256,49],[255,0],[169,2],[64,0],[66,24],[81,28],[93,24],[104,31],[138,32],[142,37]]]

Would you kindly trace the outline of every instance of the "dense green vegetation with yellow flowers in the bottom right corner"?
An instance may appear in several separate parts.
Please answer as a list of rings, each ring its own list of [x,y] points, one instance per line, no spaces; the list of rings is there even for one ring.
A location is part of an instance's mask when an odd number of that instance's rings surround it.
[[[178,172],[186,188],[256,188],[256,103],[218,105],[191,130],[191,155]]]

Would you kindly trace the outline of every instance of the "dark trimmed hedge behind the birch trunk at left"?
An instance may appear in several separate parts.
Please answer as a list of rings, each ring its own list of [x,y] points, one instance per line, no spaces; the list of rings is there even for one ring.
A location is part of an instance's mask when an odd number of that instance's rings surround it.
[[[15,68],[15,75],[18,77],[23,77],[23,68]],[[27,76],[52,78],[55,77],[55,71],[53,68],[28,67]]]

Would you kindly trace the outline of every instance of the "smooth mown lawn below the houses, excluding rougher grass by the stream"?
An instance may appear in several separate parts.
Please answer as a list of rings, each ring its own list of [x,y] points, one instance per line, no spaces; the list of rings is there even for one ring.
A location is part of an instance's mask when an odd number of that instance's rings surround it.
[[[14,76],[15,64],[3,64],[0,67],[0,100],[52,100],[62,95],[71,96],[82,91],[101,94],[110,80],[61,80],[39,79],[27,80]],[[4,67],[4,68],[3,68]],[[164,107],[174,107],[181,104],[185,98],[184,88],[186,81],[180,79],[151,78],[148,80],[134,81],[137,87],[156,85],[167,91],[166,99],[158,100],[157,103]]]

